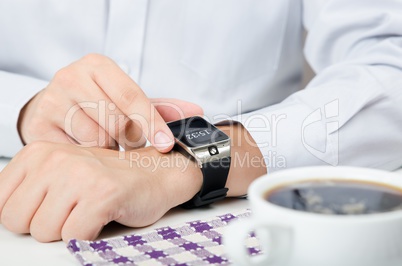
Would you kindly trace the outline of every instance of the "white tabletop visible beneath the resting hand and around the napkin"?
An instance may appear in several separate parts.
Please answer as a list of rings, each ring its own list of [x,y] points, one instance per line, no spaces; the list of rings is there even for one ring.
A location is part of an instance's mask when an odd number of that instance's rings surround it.
[[[6,164],[7,160],[0,159],[0,169]],[[248,208],[248,201],[245,199],[227,199],[223,202],[215,203],[207,209],[183,210],[177,208],[168,212],[157,223],[145,228],[132,229],[113,223],[104,228],[99,238],[142,233],[162,226],[176,225],[197,219],[208,219],[215,215],[241,211],[246,208]],[[64,266],[80,264],[69,253],[66,243],[62,241],[39,243],[29,235],[13,234],[0,224],[0,265]]]

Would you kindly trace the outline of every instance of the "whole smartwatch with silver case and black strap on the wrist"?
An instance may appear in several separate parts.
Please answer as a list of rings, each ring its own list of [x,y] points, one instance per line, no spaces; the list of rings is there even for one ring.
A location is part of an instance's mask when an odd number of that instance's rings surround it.
[[[194,208],[226,197],[226,180],[230,168],[230,138],[199,116],[167,124],[176,139],[175,149],[190,155],[201,168],[201,190],[182,204]]]

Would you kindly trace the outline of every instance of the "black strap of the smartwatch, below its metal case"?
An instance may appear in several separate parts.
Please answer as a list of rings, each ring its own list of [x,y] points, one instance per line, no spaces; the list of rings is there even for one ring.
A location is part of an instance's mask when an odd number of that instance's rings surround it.
[[[230,169],[230,157],[221,158],[204,163],[201,171],[203,185],[195,196],[182,204],[184,208],[194,208],[211,204],[226,197],[228,189],[225,187]]]

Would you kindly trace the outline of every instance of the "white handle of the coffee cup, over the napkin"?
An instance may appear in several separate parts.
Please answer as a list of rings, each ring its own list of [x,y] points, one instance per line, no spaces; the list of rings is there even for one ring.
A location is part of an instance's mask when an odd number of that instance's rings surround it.
[[[250,256],[245,246],[247,235],[255,231],[263,254]],[[291,252],[292,231],[283,225],[254,219],[232,222],[224,232],[226,254],[235,265],[284,265]]]

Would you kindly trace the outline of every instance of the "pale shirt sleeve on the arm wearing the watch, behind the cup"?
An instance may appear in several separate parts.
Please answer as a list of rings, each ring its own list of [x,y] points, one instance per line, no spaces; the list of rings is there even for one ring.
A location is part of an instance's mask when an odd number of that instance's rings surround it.
[[[402,165],[402,3],[307,0],[305,57],[316,73],[283,102],[236,119],[268,172]]]

